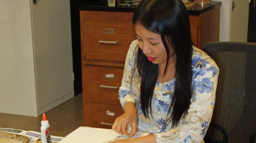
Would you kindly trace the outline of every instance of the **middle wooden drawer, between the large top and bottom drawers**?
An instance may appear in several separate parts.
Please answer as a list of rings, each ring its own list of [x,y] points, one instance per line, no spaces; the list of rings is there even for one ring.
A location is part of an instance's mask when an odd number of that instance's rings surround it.
[[[120,105],[123,67],[84,64],[82,70],[84,102]]]

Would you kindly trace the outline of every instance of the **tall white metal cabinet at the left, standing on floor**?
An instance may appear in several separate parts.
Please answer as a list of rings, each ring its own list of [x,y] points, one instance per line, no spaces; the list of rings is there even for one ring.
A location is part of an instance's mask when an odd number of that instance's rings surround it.
[[[74,97],[69,0],[0,0],[0,112],[38,116]]]

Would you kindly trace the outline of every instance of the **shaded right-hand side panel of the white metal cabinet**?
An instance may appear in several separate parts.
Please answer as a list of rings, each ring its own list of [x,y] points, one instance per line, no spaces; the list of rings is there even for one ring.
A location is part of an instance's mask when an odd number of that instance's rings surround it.
[[[38,115],[74,97],[70,0],[30,0]]]

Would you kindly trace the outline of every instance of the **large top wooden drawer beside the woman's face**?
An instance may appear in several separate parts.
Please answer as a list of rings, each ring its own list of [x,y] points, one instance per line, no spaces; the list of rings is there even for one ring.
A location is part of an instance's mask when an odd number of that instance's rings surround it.
[[[80,11],[82,58],[124,62],[136,39],[132,12]]]

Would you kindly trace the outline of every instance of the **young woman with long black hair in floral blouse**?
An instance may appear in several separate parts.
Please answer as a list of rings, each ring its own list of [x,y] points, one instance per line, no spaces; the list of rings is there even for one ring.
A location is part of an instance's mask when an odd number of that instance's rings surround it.
[[[133,23],[137,40],[128,50],[118,95],[125,113],[112,129],[151,135],[113,143],[204,143],[218,67],[192,46],[186,7],[181,0],[142,0]]]

